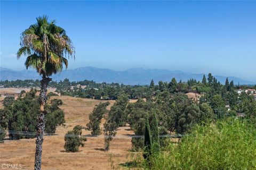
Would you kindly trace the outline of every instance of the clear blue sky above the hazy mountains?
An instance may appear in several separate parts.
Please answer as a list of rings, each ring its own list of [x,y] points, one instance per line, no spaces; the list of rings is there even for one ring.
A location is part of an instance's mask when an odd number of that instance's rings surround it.
[[[69,69],[132,67],[256,79],[256,1],[1,1],[1,67],[46,14],[76,48]]]

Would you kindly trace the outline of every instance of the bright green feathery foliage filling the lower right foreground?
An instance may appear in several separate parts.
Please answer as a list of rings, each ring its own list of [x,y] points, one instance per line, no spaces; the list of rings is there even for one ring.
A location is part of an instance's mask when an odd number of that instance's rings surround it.
[[[255,126],[239,120],[196,126],[150,158],[151,169],[256,169]],[[142,165],[147,169],[148,164]]]

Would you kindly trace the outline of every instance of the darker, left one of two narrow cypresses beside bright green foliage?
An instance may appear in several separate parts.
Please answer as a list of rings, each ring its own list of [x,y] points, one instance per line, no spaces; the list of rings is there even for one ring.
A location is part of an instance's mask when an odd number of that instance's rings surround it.
[[[146,116],[145,120],[145,138],[144,138],[144,153],[143,157],[144,159],[149,160],[149,156],[151,155],[151,134],[150,134],[150,128],[149,128],[149,122],[148,122],[148,114]]]

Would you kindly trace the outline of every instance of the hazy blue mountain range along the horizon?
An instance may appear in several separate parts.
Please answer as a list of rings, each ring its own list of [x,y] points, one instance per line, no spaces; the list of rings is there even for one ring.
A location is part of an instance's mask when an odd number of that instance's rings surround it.
[[[149,84],[151,79],[157,83],[158,81],[170,82],[172,78],[177,81],[187,81],[188,79],[196,79],[201,81],[204,74],[194,74],[182,71],[170,71],[162,69],[143,69],[134,68],[125,71],[114,71],[110,69],[99,69],[95,67],[80,67],[77,69],[63,70],[61,73],[52,76],[53,80],[63,80],[68,78],[70,81],[93,80],[95,82],[117,82],[123,84]],[[207,77],[207,75],[206,75]],[[214,75],[221,83],[225,83],[226,77]],[[25,79],[41,79],[34,70],[14,71],[10,69],[0,68],[0,80],[25,80]],[[233,80],[235,84],[256,84],[254,81],[248,81],[237,77],[228,77],[229,81]]]

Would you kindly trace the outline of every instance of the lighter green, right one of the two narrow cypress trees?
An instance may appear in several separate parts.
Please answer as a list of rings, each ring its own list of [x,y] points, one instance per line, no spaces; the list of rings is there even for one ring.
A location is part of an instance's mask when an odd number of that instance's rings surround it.
[[[152,122],[152,144],[154,146],[154,151],[160,151],[160,142],[159,142],[159,130],[157,124],[156,112],[153,113],[153,122]]]

